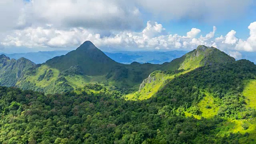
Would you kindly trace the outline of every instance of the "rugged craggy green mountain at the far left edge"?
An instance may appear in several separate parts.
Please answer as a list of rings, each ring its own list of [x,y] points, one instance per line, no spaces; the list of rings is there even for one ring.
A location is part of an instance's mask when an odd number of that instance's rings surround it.
[[[10,59],[0,55],[0,85],[15,86],[23,72],[35,64],[26,58]]]

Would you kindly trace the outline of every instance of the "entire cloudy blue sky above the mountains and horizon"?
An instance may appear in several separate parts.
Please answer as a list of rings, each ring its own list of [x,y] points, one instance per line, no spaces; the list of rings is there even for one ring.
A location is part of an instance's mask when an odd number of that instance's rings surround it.
[[[256,52],[256,0],[0,0],[0,52]]]

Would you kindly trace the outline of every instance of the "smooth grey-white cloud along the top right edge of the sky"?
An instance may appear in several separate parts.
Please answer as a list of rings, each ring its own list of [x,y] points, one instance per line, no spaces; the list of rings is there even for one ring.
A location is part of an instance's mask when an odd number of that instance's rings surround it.
[[[212,22],[244,16],[253,0],[136,0],[141,7],[167,20]]]

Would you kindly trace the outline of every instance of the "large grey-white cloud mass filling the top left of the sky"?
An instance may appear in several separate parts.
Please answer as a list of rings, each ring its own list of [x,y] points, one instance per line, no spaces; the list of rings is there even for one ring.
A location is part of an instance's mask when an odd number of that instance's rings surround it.
[[[45,26],[58,29],[142,28],[140,10],[126,0],[1,0],[0,30]]]

